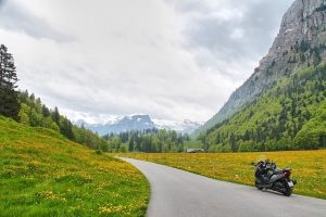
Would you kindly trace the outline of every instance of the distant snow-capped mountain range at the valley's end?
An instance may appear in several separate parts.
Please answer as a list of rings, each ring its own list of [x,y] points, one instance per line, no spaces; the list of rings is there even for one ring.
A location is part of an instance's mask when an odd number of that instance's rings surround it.
[[[192,133],[201,126],[200,123],[191,120],[177,123],[173,120],[152,119],[149,115],[130,115],[116,117],[115,119],[112,119],[106,124],[88,124],[83,119],[79,119],[74,124],[79,127],[84,125],[85,128],[90,129],[93,132],[98,132],[100,136],[104,136],[111,132],[120,133],[123,131],[145,130],[152,128],[176,130],[183,133]]]

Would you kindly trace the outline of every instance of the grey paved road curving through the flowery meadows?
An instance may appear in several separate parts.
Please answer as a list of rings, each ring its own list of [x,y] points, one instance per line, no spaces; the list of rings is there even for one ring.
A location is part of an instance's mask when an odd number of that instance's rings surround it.
[[[149,217],[326,217],[326,201],[287,197],[172,167],[123,158],[151,184]]]

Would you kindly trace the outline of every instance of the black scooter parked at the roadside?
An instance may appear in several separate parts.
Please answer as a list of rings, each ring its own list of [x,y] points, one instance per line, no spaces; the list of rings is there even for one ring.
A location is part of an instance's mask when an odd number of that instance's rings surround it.
[[[265,159],[264,162],[252,163],[255,166],[254,184],[259,190],[271,189],[283,193],[286,196],[292,194],[296,180],[290,179],[290,168],[280,169],[276,167],[276,164]]]

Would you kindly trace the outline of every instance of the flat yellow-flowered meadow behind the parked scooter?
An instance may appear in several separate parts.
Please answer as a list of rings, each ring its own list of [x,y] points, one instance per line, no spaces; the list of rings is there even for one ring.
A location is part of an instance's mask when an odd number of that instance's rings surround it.
[[[326,199],[326,150],[268,153],[168,153],[124,154],[124,156],[154,162],[213,179],[253,186],[251,162],[269,158],[278,167],[292,168],[298,180],[294,193]]]

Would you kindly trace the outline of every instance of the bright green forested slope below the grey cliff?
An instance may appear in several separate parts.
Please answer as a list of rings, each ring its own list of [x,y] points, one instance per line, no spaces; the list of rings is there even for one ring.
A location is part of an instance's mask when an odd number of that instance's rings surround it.
[[[326,148],[325,99],[326,66],[322,63],[274,82],[201,139],[211,152]]]

